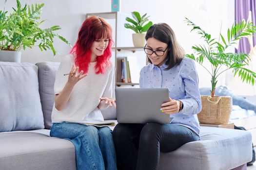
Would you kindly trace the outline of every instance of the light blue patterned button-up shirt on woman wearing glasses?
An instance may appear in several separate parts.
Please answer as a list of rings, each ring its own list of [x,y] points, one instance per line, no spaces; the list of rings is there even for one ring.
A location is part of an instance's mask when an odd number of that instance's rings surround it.
[[[171,99],[183,103],[183,109],[175,114],[172,123],[186,126],[199,135],[200,126],[197,113],[201,111],[201,96],[198,89],[196,65],[190,58],[184,57],[178,66],[164,70],[167,65],[159,68],[149,64],[140,70],[140,88],[168,88]],[[159,106],[159,109],[161,106]]]

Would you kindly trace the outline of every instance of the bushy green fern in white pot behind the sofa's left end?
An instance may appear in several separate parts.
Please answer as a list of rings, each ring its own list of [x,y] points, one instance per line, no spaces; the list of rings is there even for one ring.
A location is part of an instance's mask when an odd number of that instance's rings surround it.
[[[21,7],[20,1],[17,0],[17,9],[13,8],[12,13],[0,11],[0,61],[11,61],[12,56],[16,55],[18,58],[13,61],[20,62],[20,49],[25,50],[33,46],[38,46],[41,51],[49,49],[55,55],[55,37],[69,44],[64,37],[55,33],[60,29],[58,25],[47,29],[39,28],[44,21],[39,21],[43,6],[42,3],[31,6],[25,4]],[[36,42],[39,44],[35,45]]]

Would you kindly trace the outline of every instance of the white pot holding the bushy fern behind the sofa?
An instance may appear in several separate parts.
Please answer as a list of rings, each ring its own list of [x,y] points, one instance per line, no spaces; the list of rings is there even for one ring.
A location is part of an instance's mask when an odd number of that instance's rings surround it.
[[[0,50],[0,61],[20,63],[20,58],[21,58],[20,51]]]

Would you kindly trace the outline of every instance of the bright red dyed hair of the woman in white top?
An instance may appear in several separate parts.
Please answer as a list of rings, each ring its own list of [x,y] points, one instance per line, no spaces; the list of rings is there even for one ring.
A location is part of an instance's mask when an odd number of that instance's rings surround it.
[[[92,53],[90,48],[96,39],[101,38],[108,38],[109,43],[104,53],[97,57],[96,74],[105,73],[105,67],[111,65],[112,28],[101,17],[91,16],[86,18],[79,30],[78,40],[70,51],[70,53],[76,56],[75,64],[79,67],[79,71],[88,72]]]

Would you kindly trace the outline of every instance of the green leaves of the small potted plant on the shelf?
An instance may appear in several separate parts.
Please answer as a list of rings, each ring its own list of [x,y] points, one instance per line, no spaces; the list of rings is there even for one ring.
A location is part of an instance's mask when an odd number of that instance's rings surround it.
[[[130,22],[131,24],[129,23],[125,23],[124,24],[124,27],[125,28],[128,28],[128,29],[132,29],[135,33],[144,33],[144,32],[147,32],[149,27],[151,27],[153,25],[153,23],[151,21],[149,21],[147,24],[145,24],[145,22],[148,21],[148,17],[147,16],[147,13],[144,14],[142,17],[140,17],[140,14],[136,11],[132,12],[132,18],[130,17],[126,17],[125,20]],[[145,25],[143,25],[145,24]]]

